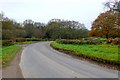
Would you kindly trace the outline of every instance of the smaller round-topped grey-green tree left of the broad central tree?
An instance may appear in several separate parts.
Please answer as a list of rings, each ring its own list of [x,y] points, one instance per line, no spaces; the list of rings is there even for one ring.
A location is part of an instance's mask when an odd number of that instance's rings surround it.
[[[45,24],[40,22],[34,22],[31,19],[27,19],[23,22],[24,30],[27,33],[26,38],[44,38],[45,36]]]

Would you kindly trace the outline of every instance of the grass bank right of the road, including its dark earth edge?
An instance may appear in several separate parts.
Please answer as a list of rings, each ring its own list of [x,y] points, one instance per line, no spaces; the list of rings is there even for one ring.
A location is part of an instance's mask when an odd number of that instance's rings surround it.
[[[118,45],[62,44],[58,42],[52,42],[50,45],[54,49],[65,52],[67,54],[89,59],[104,65],[112,65],[112,67],[115,69],[120,70],[120,60],[118,59]]]

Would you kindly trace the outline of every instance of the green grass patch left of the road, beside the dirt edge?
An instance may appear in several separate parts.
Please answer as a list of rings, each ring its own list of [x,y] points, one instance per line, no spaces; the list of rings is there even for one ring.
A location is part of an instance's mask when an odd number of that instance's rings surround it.
[[[6,46],[2,48],[2,66],[8,65],[13,58],[15,57],[16,53],[21,50],[20,46]]]

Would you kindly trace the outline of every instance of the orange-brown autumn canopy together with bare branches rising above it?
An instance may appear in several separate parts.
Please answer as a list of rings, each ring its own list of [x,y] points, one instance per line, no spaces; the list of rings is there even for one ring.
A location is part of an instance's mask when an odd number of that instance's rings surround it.
[[[120,37],[120,12],[119,5],[120,1],[106,2],[104,5],[108,8],[107,11],[101,13],[97,19],[92,23],[91,31],[89,36],[94,37]]]

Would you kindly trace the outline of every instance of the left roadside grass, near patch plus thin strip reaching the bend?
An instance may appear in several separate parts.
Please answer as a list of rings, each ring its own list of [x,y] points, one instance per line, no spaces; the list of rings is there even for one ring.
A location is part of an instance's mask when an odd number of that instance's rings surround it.
[[[11,41],[8,41],[6,43],[9,43],[9,42]],[[12,42],[12,44],[10,43],[10,45],[1,47],[0,48],[0,62],[2,64],[2,67],[6,67],[10,65],[11,61],[14,59],[16,54],[22,50],[22,46],[20,45],[32,44],[36,42],[42,42],[42,40],[31,41],[30,39],[29,41]]]

